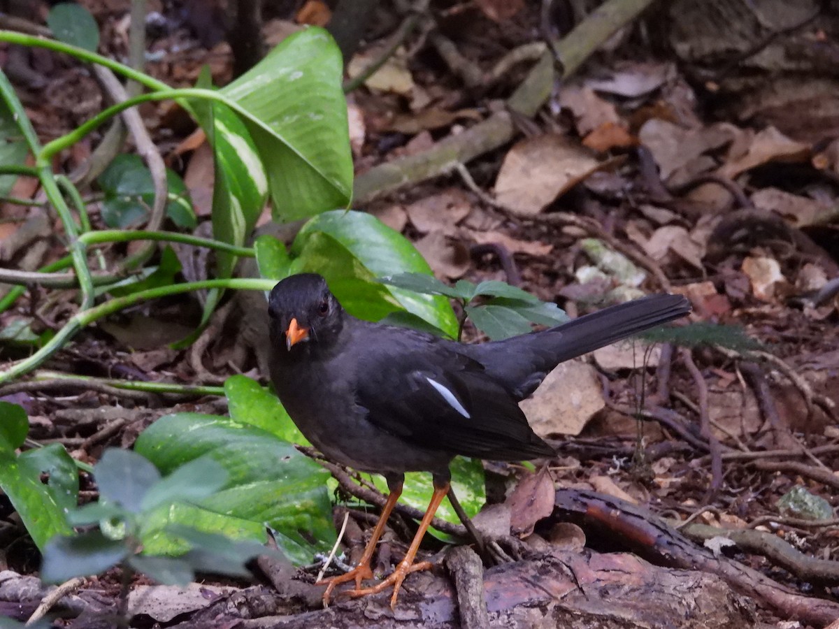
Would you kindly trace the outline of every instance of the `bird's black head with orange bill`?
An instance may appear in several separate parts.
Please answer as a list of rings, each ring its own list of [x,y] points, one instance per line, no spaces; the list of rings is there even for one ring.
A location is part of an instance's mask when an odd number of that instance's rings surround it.
[[[315,273],[292,275],[274,286],[268,316],[274,351],[289,356],[330,347],[344,323],[344,309]]]

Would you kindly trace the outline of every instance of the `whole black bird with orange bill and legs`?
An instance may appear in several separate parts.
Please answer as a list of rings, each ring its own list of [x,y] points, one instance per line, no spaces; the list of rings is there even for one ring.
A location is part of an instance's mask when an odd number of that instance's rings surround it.
[[[451,460],[554,456],[519,402],[560,362],[689,312],[684,297],[656,294],[547,330],[466,344],[357,319],[316,273],[279,281],[268,298],[268,366],[279,401],[326,459],[383,475],[389,491],[357,566],[318,582],[327,586],[324,606],[337,585],[355,581],[353,597],[393,586],[395,608],[405,577],[430,568],[414,559],[450,489]],[[431,473],[428,509],[404,559],[377,585],[362,587],[373,579],[371,559],[409,471]]]

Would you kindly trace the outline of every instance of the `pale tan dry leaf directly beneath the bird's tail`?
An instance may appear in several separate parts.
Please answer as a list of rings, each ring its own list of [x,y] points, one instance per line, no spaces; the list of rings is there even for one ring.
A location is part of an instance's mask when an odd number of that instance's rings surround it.
[[[561,363],[545,377],[533,397],[519,403],[539,437],[580,434],[591,416],[604,406],[597,372],[582,361]]]

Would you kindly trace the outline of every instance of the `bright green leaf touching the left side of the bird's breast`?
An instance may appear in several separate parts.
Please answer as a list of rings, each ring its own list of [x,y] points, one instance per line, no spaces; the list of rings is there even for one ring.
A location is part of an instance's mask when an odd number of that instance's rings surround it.
[[[243,424],[267,430],[292,444],[310,445],[294,425],[274,393],[247,376],[232,376],[224,381],[224,394],[230,417]]]

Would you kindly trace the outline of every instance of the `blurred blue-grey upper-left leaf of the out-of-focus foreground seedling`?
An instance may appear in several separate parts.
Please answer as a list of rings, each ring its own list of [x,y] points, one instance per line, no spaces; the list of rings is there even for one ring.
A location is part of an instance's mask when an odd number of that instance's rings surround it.
[[[119,448],[105,450],[93,476],[100,496],[132,513],[143,511],[143,497],[160,480],[160,472],[143,455]]]

